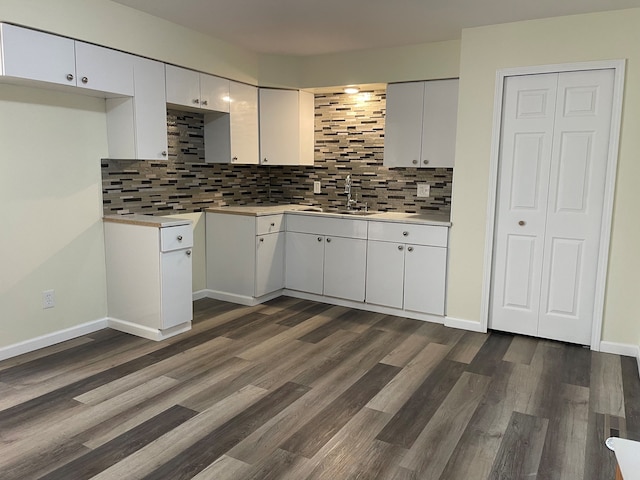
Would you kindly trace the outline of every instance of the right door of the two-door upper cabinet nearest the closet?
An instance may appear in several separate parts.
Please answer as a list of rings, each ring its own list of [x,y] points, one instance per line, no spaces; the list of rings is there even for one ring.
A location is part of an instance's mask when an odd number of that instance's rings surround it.
[[[457,119],[458,80],[425,82],[422,167],[453,167]]]

